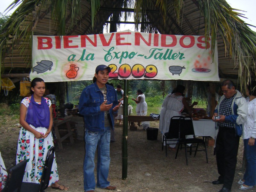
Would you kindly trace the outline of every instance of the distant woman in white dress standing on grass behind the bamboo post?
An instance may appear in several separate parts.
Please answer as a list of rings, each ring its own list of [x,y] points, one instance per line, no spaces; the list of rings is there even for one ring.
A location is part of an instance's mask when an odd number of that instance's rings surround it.
[[[145,95],[140,89],[137,90],[136,95],[138,95],[136,99],[132,98],[132,100],[137,103],[136,113],[139,116],[146,116],[148,112],[148,104],[145,101]],[[140,125],[140,122],[138,122],[138,125]]]

